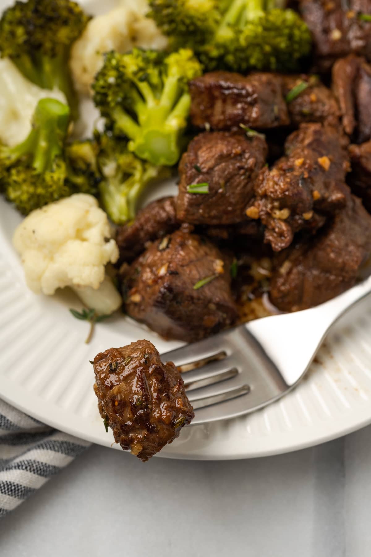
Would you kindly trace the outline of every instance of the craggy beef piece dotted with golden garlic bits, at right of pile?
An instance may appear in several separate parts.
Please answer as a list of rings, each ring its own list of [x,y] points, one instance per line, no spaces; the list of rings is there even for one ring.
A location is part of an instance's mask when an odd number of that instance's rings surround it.
[[[266,227],[274,251],[288,247],[302,228],[316,231],[325,215],[345,206],[349,170],[347,139],[321,124],[301,124],[285,144],[286,156],[260,171],[256,199],[247,209]]]

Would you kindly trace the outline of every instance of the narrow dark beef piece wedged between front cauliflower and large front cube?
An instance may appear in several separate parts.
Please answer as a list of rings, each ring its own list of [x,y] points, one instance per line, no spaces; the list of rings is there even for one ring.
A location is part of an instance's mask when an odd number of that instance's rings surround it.
[[[164,237],[179,227],[174,197],[156,199],[138,212],[134,222],[117,228],[119,262],[131,262],[145,250],[147,242]]]

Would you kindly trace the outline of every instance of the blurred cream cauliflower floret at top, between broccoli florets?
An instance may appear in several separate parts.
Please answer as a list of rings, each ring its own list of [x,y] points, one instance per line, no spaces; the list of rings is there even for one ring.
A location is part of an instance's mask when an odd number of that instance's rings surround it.
[[[103,54],[127,52],[133,47],[162,50],[167,38],[146,17],[147,0],[122,0],[110,12],[93,17],[73,44],[70,68],[76,90],[90,94],[94,76],[103,65]]]

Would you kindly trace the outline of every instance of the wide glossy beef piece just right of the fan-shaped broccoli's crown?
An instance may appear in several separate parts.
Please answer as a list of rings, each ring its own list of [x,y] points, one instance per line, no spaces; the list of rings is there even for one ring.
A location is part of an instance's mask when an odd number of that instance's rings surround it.
[[[197,128],[226,130],[244,124],[265,129],[289,124],[278,75],[209,72],[190,81],[190,93],[191,120]]]

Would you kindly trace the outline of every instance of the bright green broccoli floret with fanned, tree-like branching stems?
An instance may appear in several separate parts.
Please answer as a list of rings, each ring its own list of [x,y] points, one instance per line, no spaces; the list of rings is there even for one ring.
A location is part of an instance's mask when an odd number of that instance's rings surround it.
[[[201,65],[189,49],[108,52],[93,83],[94,101],[113,134],[129,139],[130,151],[172,166],[189,116],[188,82],[198,75]]]

